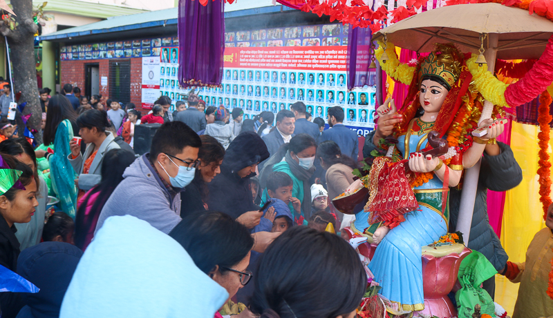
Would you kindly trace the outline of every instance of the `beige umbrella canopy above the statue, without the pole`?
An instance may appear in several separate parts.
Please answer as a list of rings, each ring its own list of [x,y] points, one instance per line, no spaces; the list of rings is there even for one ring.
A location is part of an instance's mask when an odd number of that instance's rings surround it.
[[[453,42],[478,54],[485,37],[484,47],[497,52],[498,59],[538,59],[552,34],[553,23],[535,13],[500,3],[471,3],[415,14],[376,32],[373,39],[382,41],[386,35],[396,46],[415,52]]]

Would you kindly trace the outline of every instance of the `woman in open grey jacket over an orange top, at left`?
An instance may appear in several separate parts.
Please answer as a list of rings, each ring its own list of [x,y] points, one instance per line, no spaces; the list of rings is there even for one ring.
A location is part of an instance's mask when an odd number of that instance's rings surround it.
[[[70,141],[71,154],[68,155],[69,162],[77,172],[76,186],[80,190],[88,191],[100,183],[102,179],[102,161],[104,153],[111,149],[120,149],[118,143],[113,139],[111,132],[106,132],[106,127],[111,123],[108,121],[106,112],[101,110],[86,110],[77,117],[79,135],[82,142],[86,143],[84,156],[81,154],[81,146],[75,140]],[[81,194],[84,194],[81,191]]]

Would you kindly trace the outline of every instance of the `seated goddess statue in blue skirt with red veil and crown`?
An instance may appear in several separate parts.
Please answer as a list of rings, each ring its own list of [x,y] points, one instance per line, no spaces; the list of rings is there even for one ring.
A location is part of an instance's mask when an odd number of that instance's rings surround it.
[[[375,55],[384,65],[382,53]],[[387,155],[375,157],[369,175],[350,186],[362,182],[368,188],[368,223],[384,224],[374,232],[378,246],[368,268],[400,314],[424,309],[421,249],[448,232],[449,187],[458,186],[462,170],[474,166],[504,129],[500,119],[478,123],[485,100],[471,86],[467,63],[476,57],[469,57],[451,44],[437,44],[418,59],[402,107],[387,100],[377,109],[373,143]],[[497,118],[500,108],[491,109]],[[473,137],[478,128],[485,133]],[[435,137],[447,146],[431,154]]]

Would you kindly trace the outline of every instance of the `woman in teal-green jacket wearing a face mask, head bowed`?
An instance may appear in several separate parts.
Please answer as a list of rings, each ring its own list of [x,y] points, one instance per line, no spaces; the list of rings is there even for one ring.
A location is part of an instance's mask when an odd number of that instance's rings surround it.
[[[279,151],[269,158],[263,171],[261,171],[261,188],[263,188],[263,197],[266,202],[269,199],[266,183],[267,178],[273,171],[281,171],[288,174],[293,181],[292,198],[290,198],[290,211],[297,224],[307,225],[311,212],[311,184],[309,179],[315,172],[315,153],[317,152],[317,143],[315,139],[307,134],[299,134],[292,139],[290,143],[285,143],[279,148]],[[297,199],[296,199],[297,198]],[[294,199],[299,200],[301,210],[294,209]]]

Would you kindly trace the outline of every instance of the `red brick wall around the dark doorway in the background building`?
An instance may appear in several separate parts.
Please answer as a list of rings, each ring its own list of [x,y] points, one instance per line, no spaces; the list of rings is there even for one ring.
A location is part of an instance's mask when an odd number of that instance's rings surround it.
[[[100,95],[104,99],[109,98],[109,61],[117,61],[118,59],[87,59],[84,61],[61,61],[60,79],[61,86],[70,83],[73,86],[78,86],[84,95],[90,95],[85,92],[84,87],[84,72],[85,64],[98,63],[100,66],[100,78],[108,77],[108,85],[100,85]],[[126,59],[123,59],[126,60]],[[131,58],[131,102],[136,108],[142,110],[142,58]]]

